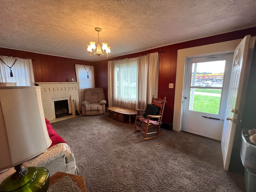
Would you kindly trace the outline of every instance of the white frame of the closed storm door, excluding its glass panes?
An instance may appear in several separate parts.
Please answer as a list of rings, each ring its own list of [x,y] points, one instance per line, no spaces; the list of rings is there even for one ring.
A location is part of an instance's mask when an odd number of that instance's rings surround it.
[[[212,58],[213,57],[213,58]],[[215,58],[220,57],[220,59]],[[200,136],[204,136],[207,138],[212,138],[214,140],[221,141],[222,138],[222,130],[226,112],[226,104],[228,100],[228,90],[230,85],[230,76],[233,64],[233,52],[225,53],[225,54],[211,54],[204,55],[204,56],[194,56],[194,57],[187,57],[186,64],[185,64],[185,76],[184,76],[184,96],[186,96],[186,100],[183,100],[183,110],[182,110],[182,124],[181,129],[182,131],[190,132],[193,134],[198,134]],[[190,103],[190,87],[192,85],[192,64],[193,63],[201,63],[201,62],[216,62],[218,60],[225,60],[225,67],[224,67],[224,78],[222,82],[222,87],[211,87],[216,89],[221,89],[221,96],[220,96],[220,105],[219,105],[219,113],[218,114],[209,114],[207,112],[200,112],[195,111],[189,108]],[[214,64],[212,64],[213,66]],[[210,74],[209,74],[210,76]],[[196,88],[196,87],[194,87]],[[202,88],[202,87],[199,87]],[[203,87],[206,88],[207,87]],[[207,118],[202,118],[205,116],[211,116],[213,118],[218,118],[220,120],[212,120]],[[202,129],[203,125],[208,124],[208,126]]]

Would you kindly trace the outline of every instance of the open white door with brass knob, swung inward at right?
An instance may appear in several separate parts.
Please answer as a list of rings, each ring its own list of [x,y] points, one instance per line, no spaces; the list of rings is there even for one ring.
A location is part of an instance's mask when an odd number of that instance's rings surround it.
[[[221,147],[224,170],[228,171],[234,134],[236,127],[240,124],[239,116],[242,116],[244,105],[244,94],[248,84],[248,72],[250,71],[255,38],[245,36],[234,52],[232,64],[228,103],[226,107],[226,118],[222,133]]]

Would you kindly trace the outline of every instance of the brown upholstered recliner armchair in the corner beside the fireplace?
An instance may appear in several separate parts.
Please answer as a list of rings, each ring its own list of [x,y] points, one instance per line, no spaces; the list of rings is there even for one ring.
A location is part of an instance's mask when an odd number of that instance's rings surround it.
[[[82,101],[82,115],[92,116],[106,113],[105,94],[103,88],[84,89]]]

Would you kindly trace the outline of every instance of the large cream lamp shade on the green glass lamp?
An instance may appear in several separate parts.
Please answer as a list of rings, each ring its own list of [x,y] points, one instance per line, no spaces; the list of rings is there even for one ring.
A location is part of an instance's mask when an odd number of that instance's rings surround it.
[[[0,87],[0,171],[38,156],[51,143],[40,87]]]

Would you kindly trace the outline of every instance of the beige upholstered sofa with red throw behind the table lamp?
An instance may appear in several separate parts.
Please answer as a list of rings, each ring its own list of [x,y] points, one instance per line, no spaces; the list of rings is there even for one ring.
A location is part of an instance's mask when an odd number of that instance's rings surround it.
[[[46,127],[52,144],[39,156],[36,156],[23,163],[23,167],[45,167],[49,170],[50,176],[56,172],[77,174],[76,159],[66,141],[56,133],[50,121],[45,119]],[[14,173],[14,168],[0,173],[0,183]]]

